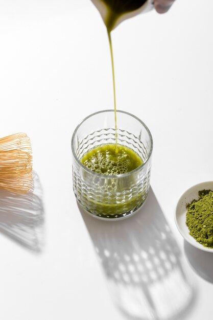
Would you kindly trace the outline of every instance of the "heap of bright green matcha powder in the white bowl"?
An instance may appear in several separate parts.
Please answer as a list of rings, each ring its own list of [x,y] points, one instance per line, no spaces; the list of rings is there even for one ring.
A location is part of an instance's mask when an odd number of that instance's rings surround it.
[[[198,200],[186,204],[186,225],[196,241],[213,248],[213,192],[201,190],[198,195]]]

